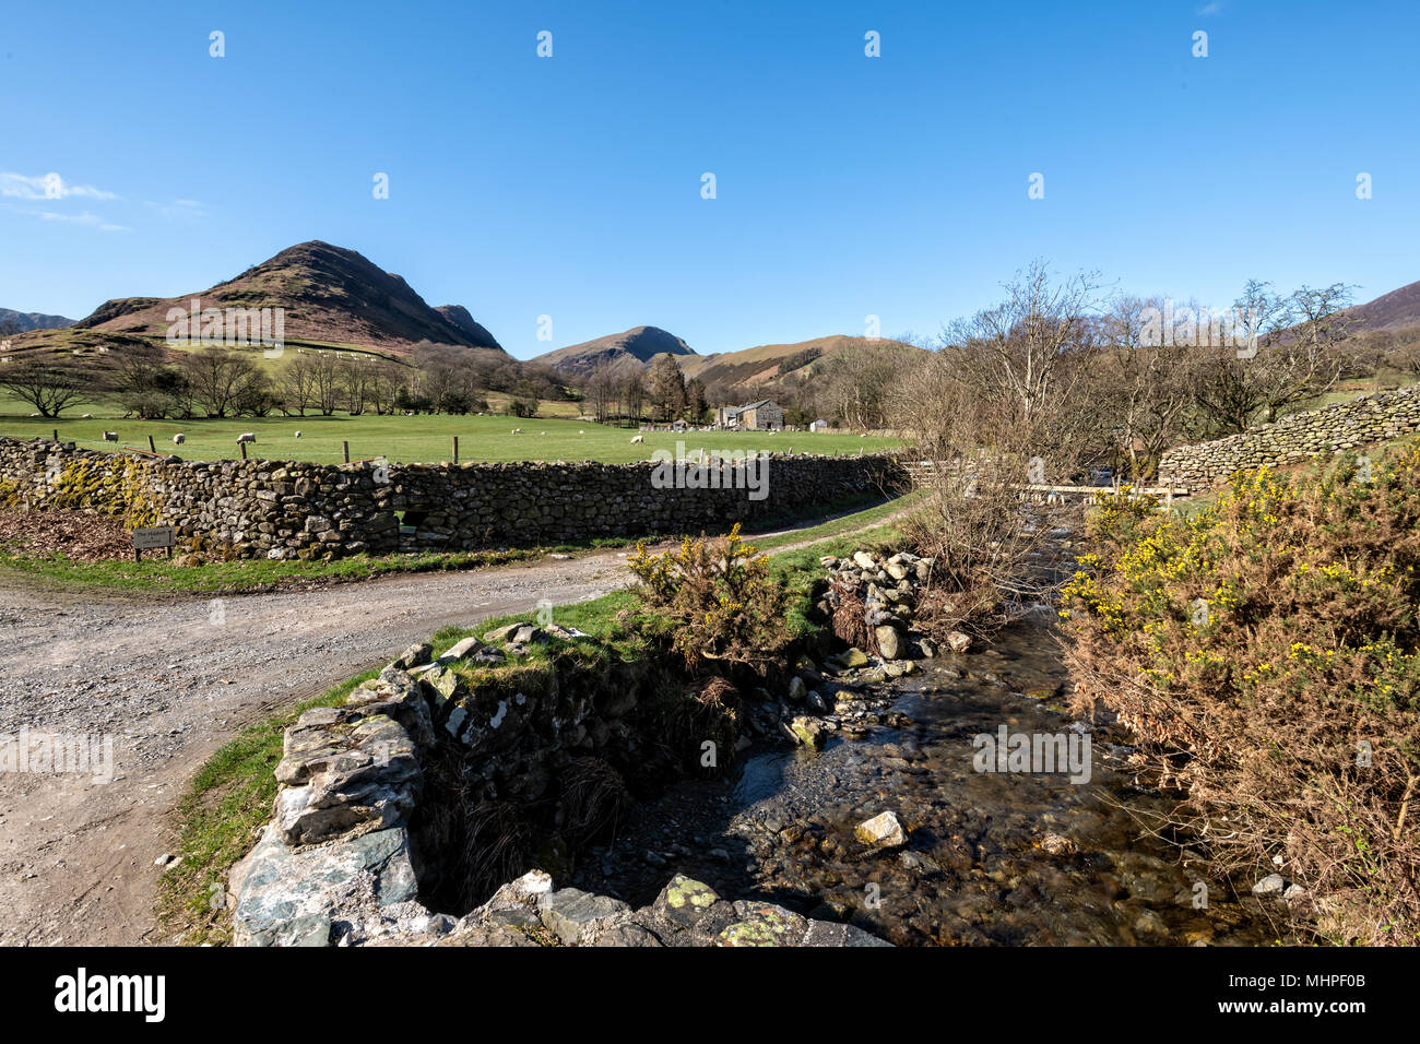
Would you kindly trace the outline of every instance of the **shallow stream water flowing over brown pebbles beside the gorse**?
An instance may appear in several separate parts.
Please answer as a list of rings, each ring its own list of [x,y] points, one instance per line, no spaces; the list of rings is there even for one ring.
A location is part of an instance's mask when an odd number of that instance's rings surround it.
[[[899,945],[1285,939],[1275,908],[1234,896],[1186,847],[1150,835],[1150,812],[1172,803],[1135,785],[1108,729],[1091,736],[1088,783],[976,770],[973,737],[1003,724],[1069,734],[1074,719],[1052,695],[1065,670],[1042,618],[983,653],[923,666],[890,683],[910,726],[834,736],[821,751],[751,750],[720,780],[677,784],[594,849],[575,883],[640,903],[682,872],[727,898],[852,920]],[[899,851],[853,837],[883,811],[909,830]]]

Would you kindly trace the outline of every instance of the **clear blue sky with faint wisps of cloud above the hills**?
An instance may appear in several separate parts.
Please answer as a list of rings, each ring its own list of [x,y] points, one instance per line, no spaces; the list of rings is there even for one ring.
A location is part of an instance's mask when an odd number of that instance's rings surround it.
[[[1399,0],[57,0],[0,34],[23,311],[190,293],[310,239],[521,358],[642,322],[700,352],[870,314],[932,334],[1037,257],[1210,305],[1248,277],[1420,278]]]

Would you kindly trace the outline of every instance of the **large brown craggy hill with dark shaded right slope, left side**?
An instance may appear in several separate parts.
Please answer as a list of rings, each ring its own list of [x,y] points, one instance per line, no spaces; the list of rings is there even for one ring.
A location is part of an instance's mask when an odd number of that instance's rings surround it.
[[[75,327],[160,337],[168,310],[190,308],[193,298],[202,308],[284,308],[288,341],[355,344],[399,355],[419,341],[503,351],[467,308],[432,308],[402,277],[320,240],[288,247],[207,290],[105,301]]]

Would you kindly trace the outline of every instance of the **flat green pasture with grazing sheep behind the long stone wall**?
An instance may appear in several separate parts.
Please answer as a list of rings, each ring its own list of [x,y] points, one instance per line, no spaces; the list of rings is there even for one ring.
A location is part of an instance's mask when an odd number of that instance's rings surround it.
[[[572,403],[548,403],[568,406]],[[575,418],[538,416],[517,419],[507,416],[305,416],[305,418],[239,418],[231,420],[124,420],[112,408],[78,406],[65,410],[58,420],[30,418],[23,403],[0,401],[0,435],[20,439],[50,437],[58,429],[60,439],[77,442],[87,449],[119,449],[131,446],[146,450],[148,436],[159,453],[176,453],[193,460],[231,460],[240,457],[237,436],[253,432],[253,457],[270,460],[315,460],[339,463],[341,442],[349,442],[351,460],[388,457],[399,462],[449,460],[453,436],[459,436],[459,460],[601,460],[629,463],[648,460],[657,449],[676,450],[684,442],[686,452],[746,450],[784,453],[853,455],[892,449],[895,439],[866,437],[835,432],[646,432],[646,442],[633,445],[635,430],[577,420]],[[78,419],[91,412],[91,420]],[[521,428],[521,435],[513,435]],[[118,445],[105,443],[104,432],[115,432]],[[173,445],[173,435],[182,432],[187,442]],[[301,437],[295,437],[301,432]]]

